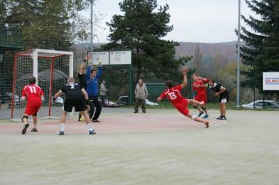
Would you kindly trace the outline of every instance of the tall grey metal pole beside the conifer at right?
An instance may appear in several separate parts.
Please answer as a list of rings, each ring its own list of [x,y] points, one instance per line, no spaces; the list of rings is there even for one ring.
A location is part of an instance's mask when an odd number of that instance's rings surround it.
[[[239,105],[239,94],[240,94],[240,12],[241,12],[241,0],[239,0],[239,26],[238,26],[238,38],[237,38],[237,74],[236,74],[236,107]]]

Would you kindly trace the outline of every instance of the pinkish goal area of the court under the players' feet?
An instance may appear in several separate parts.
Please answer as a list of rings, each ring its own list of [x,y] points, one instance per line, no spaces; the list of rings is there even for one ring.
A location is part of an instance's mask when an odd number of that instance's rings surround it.
[[[209,127],[216,127],[225,122],[224,120],[216,120],[215,118],[218,117],[216,113],[212,116],[214,117],[209,118]],[[101,113],[99,120],[100,122],[93,122],[93,128],[97,134],[204,128],[204,124],[195,122],[174,109],[151,109],[147,113],[142,113],[141,111],[133,113],[133,109],[124,109],[124,112],[116,111],[116,113],[105,111],[105,113]],[[31,117],[29,117],[29,123],[27,134],[57,134],[60,129],[59,118],[39,118],[38,133],[31,133],[30,131],[33,126]],[[20,134],[22,127],[22,122],[2,122],[0,124],[0,134]],[[66,134],[88,134],[85,122],[77,121],[77,113],[75,113],[73,119],[68,118]]]

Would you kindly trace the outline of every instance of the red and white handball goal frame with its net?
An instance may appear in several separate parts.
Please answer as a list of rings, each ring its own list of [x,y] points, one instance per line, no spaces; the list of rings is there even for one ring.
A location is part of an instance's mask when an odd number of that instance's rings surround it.
[[[13,68],[13,92],[10,103],[11,119],[18,120],[24,113],[20,102],[22,88],[28,84],[30,77],[36,77],[37,85],[45,93],[45,101],[38,113],[39,117],[57,117],[61,113],[63,97],[53,102],[52,97],[68,77],[73,77],[73,52],[48,49],[31,49],[15,54]]]

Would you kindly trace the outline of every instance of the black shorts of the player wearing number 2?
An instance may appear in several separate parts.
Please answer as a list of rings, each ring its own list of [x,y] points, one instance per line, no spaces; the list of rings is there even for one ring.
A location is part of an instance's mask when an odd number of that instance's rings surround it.
[[[75,106],[76,112],[82,112],[86,110],[86,103],[84,98],[82,97],[66,99],[63,110],[70,113],[73,110],[73,106]]]

